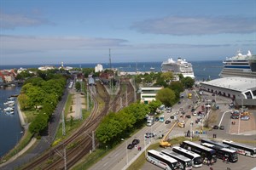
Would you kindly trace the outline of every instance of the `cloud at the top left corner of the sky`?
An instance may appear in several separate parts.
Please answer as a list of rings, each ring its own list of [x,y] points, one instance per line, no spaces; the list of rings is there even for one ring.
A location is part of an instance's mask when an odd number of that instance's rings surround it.
[[[37,15],[26,16],[25,14],[4,14],[0,11],[0,28],[15,29],[16,27],[52,25],[49,20],[41,19]]]

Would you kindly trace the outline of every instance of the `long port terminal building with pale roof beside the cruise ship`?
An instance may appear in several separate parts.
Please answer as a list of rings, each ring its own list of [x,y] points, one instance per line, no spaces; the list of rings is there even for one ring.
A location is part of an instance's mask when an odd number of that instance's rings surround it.
[[[223,77],[201,82],[201,89],[233,99],[236,105],[256,106],[256,79]]]

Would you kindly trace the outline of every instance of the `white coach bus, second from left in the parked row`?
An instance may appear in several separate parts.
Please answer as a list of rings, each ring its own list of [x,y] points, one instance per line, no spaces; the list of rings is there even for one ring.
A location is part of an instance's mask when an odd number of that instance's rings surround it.
[[[192,169],[192,161],[188,157],[185,157],[183,155],[177,154],[176,152],[172,150],[162,150],[161,151],[166,156],[170,156],[177,160],[179,164],[179,168],[183,170],[190,170]]]

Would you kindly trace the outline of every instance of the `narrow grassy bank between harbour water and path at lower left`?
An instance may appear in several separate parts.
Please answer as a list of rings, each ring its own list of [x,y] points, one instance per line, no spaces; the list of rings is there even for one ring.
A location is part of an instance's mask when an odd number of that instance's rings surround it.
[[[12,156],[15,156],[20,150],[23,150],[27,144],[29,144],[30,140],[32,139],[32,133],[26,131],[24,136],[20,139],[20,142],[15,146],[13,150],[10,150],[9,153],[1,159],[1,163],[3,161],[8,161]]]

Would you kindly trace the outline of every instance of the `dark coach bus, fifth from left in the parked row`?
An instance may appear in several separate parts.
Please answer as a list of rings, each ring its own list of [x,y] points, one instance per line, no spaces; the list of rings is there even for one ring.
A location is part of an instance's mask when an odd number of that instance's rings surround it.
[[[230,162],[238,161],[236,150],[230,150],[228,148],[224,148],[214,144],[208,144],[208,143],[201,143],[201,144],[204,146],[207,146],[208,148],[211,148],[212,150],[215,150],[216,157],[218,157],[219,159],[230,161]]]

